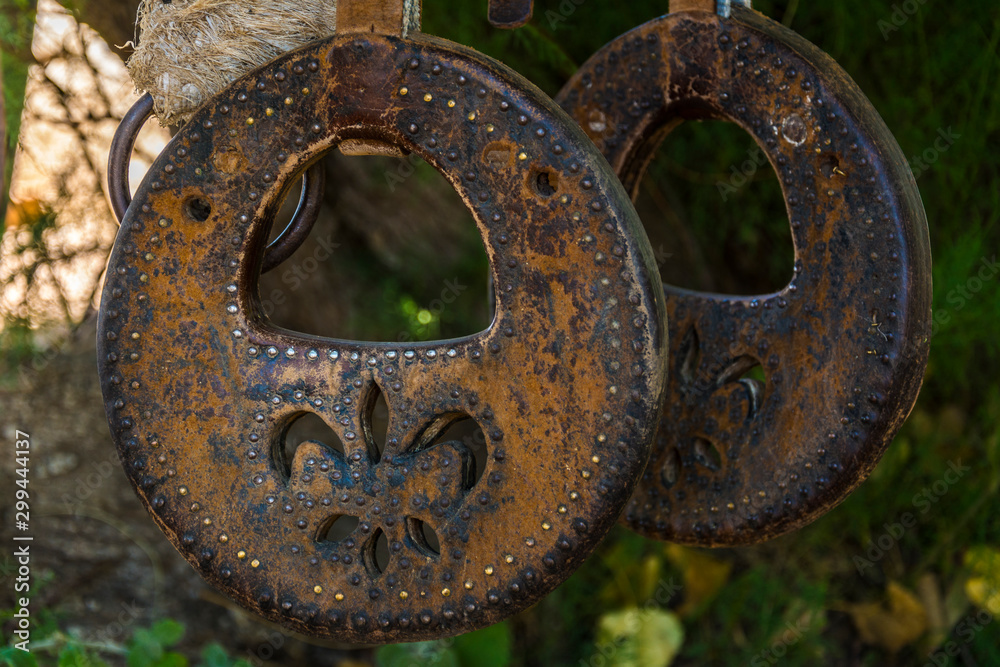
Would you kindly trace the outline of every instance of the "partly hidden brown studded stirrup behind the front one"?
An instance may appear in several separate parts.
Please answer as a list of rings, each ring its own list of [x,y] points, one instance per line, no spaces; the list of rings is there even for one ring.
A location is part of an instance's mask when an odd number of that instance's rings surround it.
[[[908,415],[929,347],[927,222],[878,114],[818,48],[736,5],[636,28],[558,99],[633,194],[679,123],[738,124],[778,174],[795,244],[774,294],[665,286],[667,401],[627,525],[736,545],[834,507]]]

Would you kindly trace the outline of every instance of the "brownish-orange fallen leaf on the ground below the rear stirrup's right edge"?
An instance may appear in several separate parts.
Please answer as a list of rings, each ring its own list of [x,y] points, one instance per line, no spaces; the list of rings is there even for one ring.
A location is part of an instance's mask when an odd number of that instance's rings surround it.
[[[861,639],[896,653],[927,630],[927,612],[920,600],[894,581],[889,582],[886,602],[848,606]]]

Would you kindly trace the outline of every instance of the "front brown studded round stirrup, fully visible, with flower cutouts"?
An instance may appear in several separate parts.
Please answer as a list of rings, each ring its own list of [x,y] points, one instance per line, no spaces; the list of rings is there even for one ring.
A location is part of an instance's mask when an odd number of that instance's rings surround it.
[[[666,371],[656,264],[607,162],[537,88],[418,17],[342,0],[335,36],[196,112],[128,208],[99,322],[114,440],[176,548],[244,607],[362,643],[474,630],[565,580],[632,494]],[[337,147],[416,154],[461,194],[496,285],[487,330],[403,345],[268,320],[276,209]],[[286,449],[305,415],[343,451]],[[461,419],[485,456],[439,442]],[[343,516],[356,528],[330,537]]]

